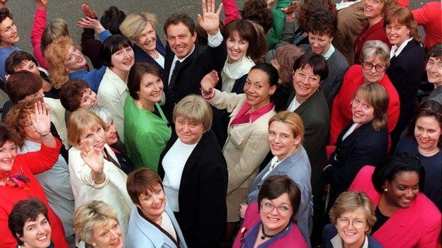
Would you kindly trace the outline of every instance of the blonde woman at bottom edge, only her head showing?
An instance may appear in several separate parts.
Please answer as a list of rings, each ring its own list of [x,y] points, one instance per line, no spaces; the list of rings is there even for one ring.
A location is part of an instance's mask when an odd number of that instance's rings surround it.
[[[123,248],[117,214],[104,201],[89,201],[74,213],[74,230],[86,248]]]

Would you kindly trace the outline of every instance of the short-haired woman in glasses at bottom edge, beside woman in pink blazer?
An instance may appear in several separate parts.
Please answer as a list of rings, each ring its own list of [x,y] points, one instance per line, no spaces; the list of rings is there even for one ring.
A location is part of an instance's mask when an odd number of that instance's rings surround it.
[[[375,225],[375,208],[363,192],[347,191],[339,195],[330,210],[331,224],[322,232],[324,248],[382,248],[370,237]]]

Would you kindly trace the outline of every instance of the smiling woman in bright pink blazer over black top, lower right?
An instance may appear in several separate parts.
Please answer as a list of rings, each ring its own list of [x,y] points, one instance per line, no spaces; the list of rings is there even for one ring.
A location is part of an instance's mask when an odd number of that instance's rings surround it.
[[[378,219],[372,237],[382,247],[441,247],[441,212],[420,191],[425,171],[407,153],[392,155],[385,165],[363,167],[349,190],[363,191],[373,201]]]

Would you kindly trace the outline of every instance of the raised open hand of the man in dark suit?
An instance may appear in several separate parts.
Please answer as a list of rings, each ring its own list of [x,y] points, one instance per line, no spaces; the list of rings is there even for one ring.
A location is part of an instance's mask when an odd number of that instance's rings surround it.
[[[203,15],[198,14],[198,23],[209,35],[216,35],[220,30],[222,4],[215,12],[215,0],[208,0],[207,4],[205,0],[201,0],[201,8],[203,8]]]

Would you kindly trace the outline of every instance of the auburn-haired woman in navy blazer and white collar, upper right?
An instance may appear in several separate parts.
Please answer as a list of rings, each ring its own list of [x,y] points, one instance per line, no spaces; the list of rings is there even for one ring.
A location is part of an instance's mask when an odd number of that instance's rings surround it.
[[[385,15],[385,32],[392,44],[387,76],[395,85],[400,100],[397,125],[392,131],[392,150],[415,111],[414,98],[424,77],[425,52],[419,45],[419,34],[409,8],[395,6]]]

